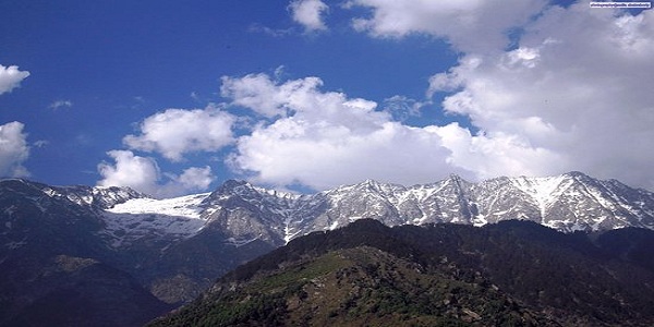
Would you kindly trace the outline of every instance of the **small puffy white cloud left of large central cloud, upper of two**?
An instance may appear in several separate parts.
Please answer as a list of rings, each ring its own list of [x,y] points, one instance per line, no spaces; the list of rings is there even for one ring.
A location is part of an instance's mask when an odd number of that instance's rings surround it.
[[[205,109],[167,109],[141,123],[141,135],[128,135],[131,149],[156,152],[180,161],[186,153],[214,152],[233,142],[234,117],[209,106]]]

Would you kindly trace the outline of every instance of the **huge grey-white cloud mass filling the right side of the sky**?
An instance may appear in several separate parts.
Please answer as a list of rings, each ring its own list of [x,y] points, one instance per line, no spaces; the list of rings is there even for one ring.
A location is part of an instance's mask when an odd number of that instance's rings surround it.
[[[481,175],[581,170],[652,189],[652,11],[552,7],[525,26],[517,48],[467,53],[434,75],[427,93],[451,93],[445,110],[483,131],[455,138],[462,143],[452,157]],[[514,172],[501,160],[484,170],[473,154],[485,143],[504,148],[495,156],[533,160],[508,165]]]

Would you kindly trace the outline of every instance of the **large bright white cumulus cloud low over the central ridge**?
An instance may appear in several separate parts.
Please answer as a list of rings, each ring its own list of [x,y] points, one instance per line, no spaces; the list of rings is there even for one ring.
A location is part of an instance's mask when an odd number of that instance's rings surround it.
[[[239,85],[226,94],[232,104],[279,117],[241,136],[229,159],[234,170],[261,183],[323,190],[366,178],[402,184],[449,173],[479,179],[537,172],[530,170],[533,165],[558,158],[512,134],[472,135],[456,123],[403,124],[376,110],[374,101],[322,92],[317,77],[274,84],[258,74],[223,81]]]

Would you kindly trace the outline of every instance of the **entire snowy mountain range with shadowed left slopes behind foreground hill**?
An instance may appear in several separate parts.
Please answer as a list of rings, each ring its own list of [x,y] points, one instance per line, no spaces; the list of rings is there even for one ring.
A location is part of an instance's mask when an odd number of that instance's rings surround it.
[[[230,180],[211,193],[166,199],[129,187],[0,180],[0,325],[39,325],[35,308],[56,301],[60,310],[40,319],[136,326],[195,299],[240,264],[362,218],[476,227],[522,219],[567,233],[653,229],[654,194],[580,172],[479,183],[450,175],[413,186],[368,180],[315,194]],[[80,291],[88,278],[113,295]],[[61,301],[70,294],[76,302]],[[125,296],[138,305],[121,306]],[[52,317],[80,303],[88,310],[78,316]],[[116,307],[124,314],[107,313]]]

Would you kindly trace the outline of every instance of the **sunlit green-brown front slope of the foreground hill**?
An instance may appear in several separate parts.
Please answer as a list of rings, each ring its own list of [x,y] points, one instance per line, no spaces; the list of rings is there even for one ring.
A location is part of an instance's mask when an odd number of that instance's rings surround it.
[[[460,280],[366,245],[219,283],[154,326],[557,326],[483,278]]]

